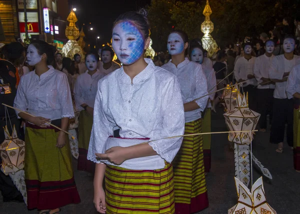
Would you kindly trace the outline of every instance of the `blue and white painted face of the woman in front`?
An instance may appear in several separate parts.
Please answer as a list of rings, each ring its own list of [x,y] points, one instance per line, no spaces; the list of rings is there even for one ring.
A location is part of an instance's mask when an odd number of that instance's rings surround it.
[[[144,51],[144,39],[135,25],[120,22],[112,30],[112,48],[123,64],[132,64]]]

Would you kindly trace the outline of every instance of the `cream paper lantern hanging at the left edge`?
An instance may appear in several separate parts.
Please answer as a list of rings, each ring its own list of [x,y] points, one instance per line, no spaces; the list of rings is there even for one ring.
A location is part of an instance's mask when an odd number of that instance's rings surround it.
[[[14,126],[11,135],[5,126],[4,135],[5,139],[0,144],[1,170],[7,175],[24,168],[25,142],[17,137]]]

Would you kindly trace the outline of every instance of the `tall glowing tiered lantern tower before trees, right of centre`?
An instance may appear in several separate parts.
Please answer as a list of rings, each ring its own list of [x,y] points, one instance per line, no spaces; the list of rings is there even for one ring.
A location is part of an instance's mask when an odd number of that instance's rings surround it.
[[[210,33],[213,31],[213,23],[209,17],[211,13],[212,11],[209,6],[208,0],[206,0],[206,5],[203,10],[203,15],[205,15],[205,20],[201,24],[201,31],[204,33],[204,35],[201,40],[202,40],[203,48],[208,52],[207,53],[208,57],[211,57],[217,48],[217,44],[215,40],[210,35]]]

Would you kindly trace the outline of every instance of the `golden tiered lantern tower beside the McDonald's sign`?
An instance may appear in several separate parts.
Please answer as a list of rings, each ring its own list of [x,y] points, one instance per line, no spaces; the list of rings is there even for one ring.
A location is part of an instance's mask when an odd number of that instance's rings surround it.
[[[71,10],[70,14],[67,16],[66,20],[69,22],[65,29],[65,36],[69,39],[65,45],[63,45],[62,53],[63,56],[73,58],[75,53],[79,53],[81,58],[84,58],[81,46],[77,43],[76,39],[79,37],[79,30],[75,25],[77,17],[75,12]]]

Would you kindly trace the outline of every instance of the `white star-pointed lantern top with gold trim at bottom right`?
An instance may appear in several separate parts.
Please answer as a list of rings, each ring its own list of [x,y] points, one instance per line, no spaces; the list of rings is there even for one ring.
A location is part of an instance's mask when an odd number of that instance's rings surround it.
[[[228,209],[228,214],[276,214],[276,211],[266,202],[262,177],[259,177],[250,190],[236,177],[235,188],[237,204]]]

